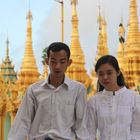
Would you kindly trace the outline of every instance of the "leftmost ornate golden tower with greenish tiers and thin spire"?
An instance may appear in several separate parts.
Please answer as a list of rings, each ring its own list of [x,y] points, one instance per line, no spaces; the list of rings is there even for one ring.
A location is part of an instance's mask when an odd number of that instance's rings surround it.
[[[14,71],[14,66],[12,65],[11,60],[9,59],[9,40],[6,40],[6,57],[5,60],[2,62],[0,67],[1,69],[1,76],[4,80],[4,90],[3,90],[3,125],[0,126],[3,128],[2,137],[0,139],[7,140],[7,135],[9,129],[11,127],[11,123],[14,119],[15,112],[17,111],[17,104],[15,104],[15,99],[17,97],[17,87],[15,85],[17,81],[17,74]],[[1,104],[2,105],[2,104]]]

